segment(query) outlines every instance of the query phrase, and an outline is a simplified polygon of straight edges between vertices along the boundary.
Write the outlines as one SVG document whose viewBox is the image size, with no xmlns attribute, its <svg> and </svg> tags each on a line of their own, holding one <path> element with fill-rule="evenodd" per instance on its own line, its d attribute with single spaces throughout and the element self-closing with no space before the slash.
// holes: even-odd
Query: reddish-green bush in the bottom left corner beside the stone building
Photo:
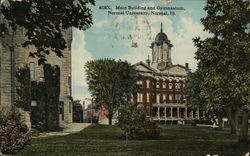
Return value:
<svg viewBox="0 0 250 156">
<path fill-rule="evenodd" d="M 14 153 L 15 150 L 22 149 L 28 140 L 14 120 L 8 120 L 5 125 L 0 126 L 0 151 Z"/>
</svg>

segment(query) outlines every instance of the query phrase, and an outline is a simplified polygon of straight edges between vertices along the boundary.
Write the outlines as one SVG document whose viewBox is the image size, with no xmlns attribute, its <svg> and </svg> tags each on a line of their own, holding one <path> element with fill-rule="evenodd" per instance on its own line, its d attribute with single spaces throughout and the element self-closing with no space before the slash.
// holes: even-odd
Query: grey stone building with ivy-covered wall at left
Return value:
<svg viewBox="0 0 250 156">
<path fill-rule="evenodd" d="M 71 42 L 72 30 L 64 32 L 67 48 L 63 50 L 63 58 L 50 54 L 47 63 L 60 67 L 60 119 L 65 122 L 72 122 L 71 96 Z M 35 47 L 22 47 L 25 41 L 25 30 L 18 28 L 17 31 L 9 31 L 5 38 L 0 38 L 0 113 L 13 109 L 16 97 L 15 73 L 19 68 L 28 65 L 30 76 L 34 81 L 44 81 L 42 65 L 37 64 L 37 58 L 29 57 L 29 52 Z"/>
</svg>

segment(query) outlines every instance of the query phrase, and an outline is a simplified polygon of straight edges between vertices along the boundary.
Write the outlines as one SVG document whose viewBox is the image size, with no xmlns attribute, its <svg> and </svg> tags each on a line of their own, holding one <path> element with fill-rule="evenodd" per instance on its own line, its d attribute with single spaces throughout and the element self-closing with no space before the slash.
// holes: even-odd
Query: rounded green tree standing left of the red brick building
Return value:
<svg viewBox="0 0 250 156">
<path fill-rule="evenodd" d="M 114 59 L 89 61 L 85 67 L 96 108 L 107 111 L 111 125 L 114 113 L 137 92 L 140 74 L 128 62 Z"/>
</svg>

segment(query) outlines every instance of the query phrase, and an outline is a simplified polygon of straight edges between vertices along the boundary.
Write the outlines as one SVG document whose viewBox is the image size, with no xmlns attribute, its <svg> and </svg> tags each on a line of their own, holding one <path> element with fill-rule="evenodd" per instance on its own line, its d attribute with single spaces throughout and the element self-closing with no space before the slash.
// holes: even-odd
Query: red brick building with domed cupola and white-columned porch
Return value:
<svg viewBox="0 0 250 156">
<path fill-rule="evenodd" d="M 188 63 L 173 64 L 171 49 L 173 45 L 162 30 L 151 44 L 152 63 L 149 58 L 138 62 L 134 67 L 143 75 L 137 82 L 142 92 L 132 99 L 139 109 L 143 109 L 154 121 L 184 123 L 205 117 L 205 112 L 189 108 L 185 96 L 185 82 L 189 73 Z"/>
</svg>

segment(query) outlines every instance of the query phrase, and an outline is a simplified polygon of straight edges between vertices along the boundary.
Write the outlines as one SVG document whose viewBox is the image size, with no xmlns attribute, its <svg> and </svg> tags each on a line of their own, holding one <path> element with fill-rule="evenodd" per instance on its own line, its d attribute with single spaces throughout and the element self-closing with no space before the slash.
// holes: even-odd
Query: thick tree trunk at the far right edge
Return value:
<svg viewBox="0 0 250 156">
<path fill-rule="evenodd" d="M 239 143 L 248 143 L 248 117 L 249 110 L 244 109 L 240 122 Z"/>
</svg>

